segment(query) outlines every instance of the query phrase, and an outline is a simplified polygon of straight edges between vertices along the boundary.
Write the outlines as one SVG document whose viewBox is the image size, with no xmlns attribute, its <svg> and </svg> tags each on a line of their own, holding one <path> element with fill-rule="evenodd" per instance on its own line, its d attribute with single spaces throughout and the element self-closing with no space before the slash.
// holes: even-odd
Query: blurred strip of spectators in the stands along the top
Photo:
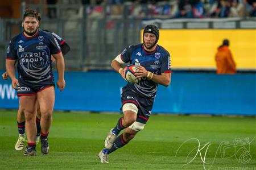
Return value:
<svg viewBox="0 0 256 170">
<path fill-rule="evenodd" d="M 127 18 L 169 19 L 256 16 L 255 0 L 47 0 L 47 3 L 86 5 L 86 14 L 92 18 L 123 15 Z M 55 10 L 51 9 L 49 18 L 55 18 Z"/>
</svg>

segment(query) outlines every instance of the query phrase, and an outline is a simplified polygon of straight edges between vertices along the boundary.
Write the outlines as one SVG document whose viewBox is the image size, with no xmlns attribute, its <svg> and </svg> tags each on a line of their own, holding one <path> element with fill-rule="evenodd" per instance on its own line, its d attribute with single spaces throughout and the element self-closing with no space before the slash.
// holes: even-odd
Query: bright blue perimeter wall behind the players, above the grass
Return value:
<svg viewBox="0 0 256 170">
<path fill-rule="evenodd" d="M 0 71 L 1 75 L 3 71 Z M 55 81 L 57 74 L 55 73 Z M 11 81 L 0 83 L 0 108 L 18 109 Z M 112 71 L 66 72 L 56 89 L 56 110 L 119 111 L 126 82 Z M 171 85 L 158 86 L 152 113 L 256 115 L 256 74 L 173 72 Z"/>
</svg>

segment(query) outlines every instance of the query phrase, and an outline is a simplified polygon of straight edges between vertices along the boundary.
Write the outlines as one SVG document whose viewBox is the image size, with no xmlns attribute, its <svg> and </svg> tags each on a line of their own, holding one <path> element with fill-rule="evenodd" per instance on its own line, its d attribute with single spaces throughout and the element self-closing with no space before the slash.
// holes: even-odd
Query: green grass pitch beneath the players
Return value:
<svg viewBox="0 0 256 170">
<path fill-rule="evenodd" d="M 98 152 L 119 117 L 119 114 L 55 112 L 49 155 L 42 155 L 38 145 L 37 156 L 26 157 L 22 156 L 23 151 L 14 149 L 18 136 L 16 111 L 2 110 L 0 169 L 256 169 L 253 117 L 152 115 L 134 140 L 110 154 L 109 164 L 102 164 Z M 198 142 L 191 138 L 200 141 L 200 152 L 203 158 L 206 155 L 205 167 L 200 152 L 184 165 L 187 156 L 188 163 L 198 151 Z M 234 144 L 237 138 L 243 139 L 242 143 Z"/>
</svg>

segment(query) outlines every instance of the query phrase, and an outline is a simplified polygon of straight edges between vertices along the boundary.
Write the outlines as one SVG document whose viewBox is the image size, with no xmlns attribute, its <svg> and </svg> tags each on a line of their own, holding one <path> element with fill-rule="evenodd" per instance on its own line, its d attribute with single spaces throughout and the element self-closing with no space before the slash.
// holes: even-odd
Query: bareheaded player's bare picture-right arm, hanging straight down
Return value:
<svg viewBox="0 0 256 170">
<path fill-rule="evenodd" d="M 53 58 L 56 60 L 56 69 L 58 72 L 58 80 L 57 86 L 62 91 L 65 88 L 65 80 L 64 80 L 64 71 L 65 71 L 65 63 L 62 52 L 52 55 Z"/>
</svg>

